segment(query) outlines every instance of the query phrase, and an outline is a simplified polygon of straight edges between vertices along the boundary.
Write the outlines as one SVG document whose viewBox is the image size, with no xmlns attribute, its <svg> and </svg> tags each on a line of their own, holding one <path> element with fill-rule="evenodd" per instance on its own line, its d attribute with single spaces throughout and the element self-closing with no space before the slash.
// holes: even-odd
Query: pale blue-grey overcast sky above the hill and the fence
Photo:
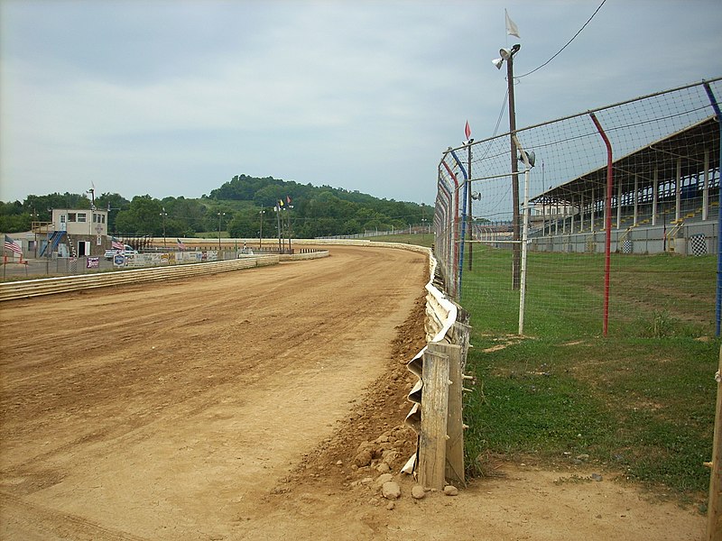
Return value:
<svg viewBox="0 0 722 541">
<path fill-rule="evenodd" d="M 465 122 L 494 133 L 499 48 L 523 75 L 600 3 L 0 0 L 0 200 L 245 173 L 432 204 Z M 719 77 L 720 23 L 719 0 L 606 0 L 517 80 L 517 127 Z"/>
</svg>

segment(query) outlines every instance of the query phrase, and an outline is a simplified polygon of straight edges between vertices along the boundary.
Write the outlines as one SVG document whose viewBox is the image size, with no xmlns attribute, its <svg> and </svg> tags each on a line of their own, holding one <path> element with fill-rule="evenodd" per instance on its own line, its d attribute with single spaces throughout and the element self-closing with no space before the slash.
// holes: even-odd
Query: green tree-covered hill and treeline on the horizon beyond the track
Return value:
<svg viewBox="0 0 722 541">
<path fill-rule="evenodd" d="M 403 229 L 428 222 L 433 214 L 430 206 L 417 203 L 246 175 L 234 177 L 199 199 L 145 195 L 128 200 L 106 193 L 95 198 L 95 206 L 109 210 L 110 233 L 192 237 L 227 232 L 233 237 L 255 237 L 263 229 L 264 237 L 273 237 L 278 223 L 274 208 L 279 201 L 284 223 L 290 224 L 292 236 L 298 238 Z M 91 205 L 86 195 L 67 192 L 28 196 L 22 203 L 0 203 L 0 231 L 28 231 L 33 221 L 50 222 L 53 208 Z"/>
</svg>

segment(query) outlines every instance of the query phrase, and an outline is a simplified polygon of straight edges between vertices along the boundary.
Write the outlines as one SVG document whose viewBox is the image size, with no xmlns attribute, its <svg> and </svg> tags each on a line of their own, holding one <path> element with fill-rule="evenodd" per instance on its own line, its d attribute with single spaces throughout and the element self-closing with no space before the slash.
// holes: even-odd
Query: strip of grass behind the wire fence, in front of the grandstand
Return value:
<svg viewBox="0 0 722 541">
<path fill-rule="evenodd" d="M 472 271 L 468 261 L 464 266 L 461 304 L 473 310 L 477 325 L 497 334 L 518 331 L 519 291 L 511 288 L 511 267 L 510 251 L 479 246 Z M 527 267 L 525 335 L 602 333 L 602 254 L 530 252 Z M 613 254 L 609 334 L 711 335 L 715 283 L 714 256 Z"/>
</svg>

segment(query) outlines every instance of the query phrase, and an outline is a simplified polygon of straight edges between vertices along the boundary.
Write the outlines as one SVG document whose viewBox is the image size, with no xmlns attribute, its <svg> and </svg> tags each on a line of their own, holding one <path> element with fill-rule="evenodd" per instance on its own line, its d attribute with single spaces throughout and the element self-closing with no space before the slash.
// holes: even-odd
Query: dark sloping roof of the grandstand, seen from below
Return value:
<svg viewBox="0 0 722 541">
<path fill-rule="evenodd" d="M 659 182 L 676 179 L 678 159 L 682 178 L 697 175 L 705 170 L 705 151 L 708 151 L 709 169 L 719 168 L 719 124 L 716 116 L 710 116 L 615 160 L 615 194 L 620 182 L 623 192 L 634 190 L 635 178 L 640 189 L 652 186 L 655 169 Z M 581 194 L 589 194 L 592 189 L 603 193 L 598 190 L 605 187 L 606 165 L 532 197 L 530 202 L 548 205 L 568 203 L 572 198 L 579 201 Z"/>
</svg>

